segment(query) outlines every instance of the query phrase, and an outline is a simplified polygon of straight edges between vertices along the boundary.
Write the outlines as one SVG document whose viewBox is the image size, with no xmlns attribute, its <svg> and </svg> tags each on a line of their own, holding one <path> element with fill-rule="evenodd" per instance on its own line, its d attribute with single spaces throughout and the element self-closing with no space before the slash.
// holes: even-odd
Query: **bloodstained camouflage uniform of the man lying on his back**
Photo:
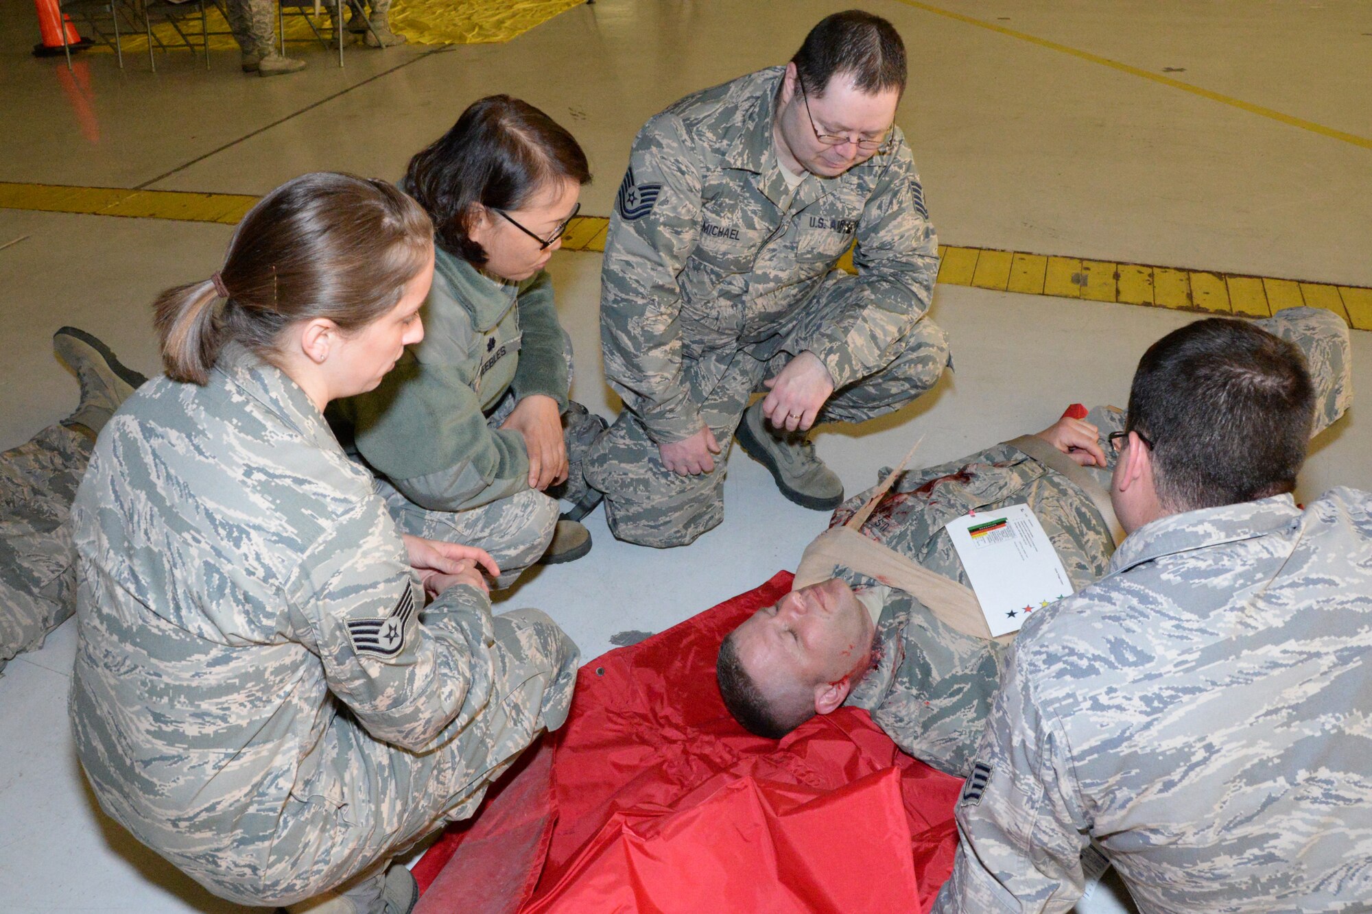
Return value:
<svg viewBox="0 0 1372 914">
<path fill-rule="evenodd" d="M 1257 321 L 1297 343 L 1316 386 L 1317 434 L 1338 420 L 1351 399 L 1349 331 L 1335 314 L 1290 309 Z M 1093 471 L 1110 484 L 1114 453 L 1106 442 L 1124 427 L 1124 412 L 1096 408 L 1088 421 L 1100 430 L 1100 447 L 1111 467 Z M 885 476 L 885 472 L 882 473 Z M 856 495 L 834 513 L 844 523 L 870 493 Z M 863 526 L 863 532 L 925 568 L 967 585 L 962 561 L 944 524 L 969 511 L 1028 504 L 1052 541 L 1076 590 L 1110 568 L 1114 543 L 1091 500 L 1067 478 L 1014 446 L 996 445 L 941 467 L 906 473 Z M 847 568 L 836 570 L 855 586 L 874 586 Z M 996 692 L 1006 645 L 962 634 L 936 619 L 911 594 L 892 590 L 877 627 L 881 659 L 853 689 L 849 704 L 867 708 L 910 755 L 967 775 Z M 986 909 L 991 910 L 991 909 Z"/>
</svg>

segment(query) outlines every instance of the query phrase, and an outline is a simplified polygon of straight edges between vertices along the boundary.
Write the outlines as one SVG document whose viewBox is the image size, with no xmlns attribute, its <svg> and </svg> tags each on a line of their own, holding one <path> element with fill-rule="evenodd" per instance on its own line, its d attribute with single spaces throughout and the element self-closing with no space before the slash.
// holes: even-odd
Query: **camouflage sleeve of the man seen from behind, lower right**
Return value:
<svg viewBox="0 0 1372 914">
<path fill-rule="evenodd" d="M 1091 823 L 1072 748 L 1056 720 L 1040 712 L 1037 675 L 1026 670 L 1044 659 L 1026 664 L 1022 646 L 1011 646 L 958 801 L 958 855 L 936 911 L 1069 911 L 1084 888 Z"/>
</svg>

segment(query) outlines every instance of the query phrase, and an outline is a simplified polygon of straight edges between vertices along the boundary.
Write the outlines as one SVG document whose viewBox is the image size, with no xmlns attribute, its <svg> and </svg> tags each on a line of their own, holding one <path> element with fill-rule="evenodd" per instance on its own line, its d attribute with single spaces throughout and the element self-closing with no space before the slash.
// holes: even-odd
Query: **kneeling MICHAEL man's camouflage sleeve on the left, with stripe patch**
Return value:
<svg viewBox="0 0 1372 914">
<path fill-rule="evenodd" d="M 659 442 L 702 428 L 682 376 L 676 276 L 700 240 L 701 173 L 681 118 L 639 130 L 615 198 L 601 270 L 605 377 Z"/>
</svg>

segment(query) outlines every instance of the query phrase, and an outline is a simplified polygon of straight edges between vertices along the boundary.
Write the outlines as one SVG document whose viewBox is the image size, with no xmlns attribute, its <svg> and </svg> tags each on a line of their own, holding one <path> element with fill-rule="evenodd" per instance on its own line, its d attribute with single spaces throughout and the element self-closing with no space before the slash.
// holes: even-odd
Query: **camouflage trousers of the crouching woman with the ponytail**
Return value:
<svg viewBox="0 0 1372 914">
<path fill-rule="evenodd" d="M 320 760 L 309 796 L 292 792 L 262 822 L 243 822 L 230 855 L 173 862 L 229 900 L 294 904 L 471 817 L 539 733 L 567 719 L 579 663 L 576 645 L 538 609 L 494 616 L 493 633 L 484 700 L 469 699 L 429 747 L 399 749 L 339 714 L 313 749 Z"/>
</svg>

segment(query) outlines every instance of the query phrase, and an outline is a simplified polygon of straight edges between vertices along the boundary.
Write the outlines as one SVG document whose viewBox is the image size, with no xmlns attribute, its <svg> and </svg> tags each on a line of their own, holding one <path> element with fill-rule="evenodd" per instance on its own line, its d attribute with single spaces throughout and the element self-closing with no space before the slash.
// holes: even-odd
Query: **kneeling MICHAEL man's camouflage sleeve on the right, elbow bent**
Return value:
<svg viewBox="0 0 1372 914">
<path fill-rule="evenodd" d="M 938 276 L 938 239 L 925 209 L 923 188 L 904 137 L 896 134 L 889 159 L 858 222 L 856 276 L 823 290 L 844 314 L 814 339 L 801 340 L 842 387 L 881 366 L 882 354 L 910 332 L 933 301 Z M 860 307 L 842 307 L 859 299 Z"/>
</svg>

